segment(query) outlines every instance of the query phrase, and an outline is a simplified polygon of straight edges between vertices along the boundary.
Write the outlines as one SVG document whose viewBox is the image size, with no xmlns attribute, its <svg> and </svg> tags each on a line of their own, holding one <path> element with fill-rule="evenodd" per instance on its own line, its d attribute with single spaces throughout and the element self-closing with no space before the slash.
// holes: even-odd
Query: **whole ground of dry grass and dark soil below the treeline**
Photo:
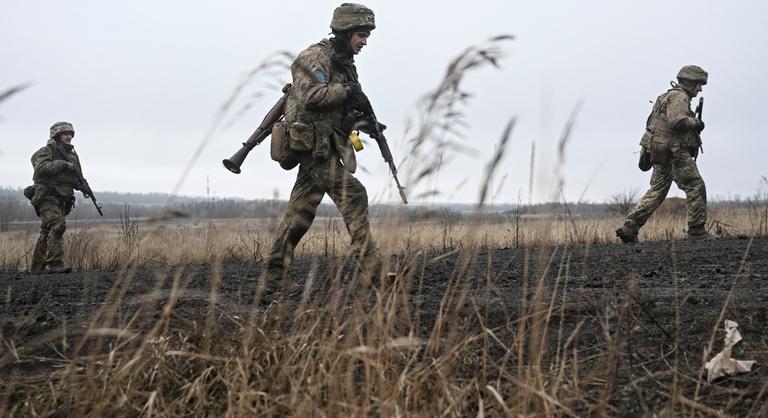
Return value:
<svg viewBox="0 0 768 418">
<path fill-rule="evenodd" d="M 282 292 L 270 223 L 76 229 L 81 270 L 47 276 L 18 272 L 34 234 L 13 232 L 0 415 L 765 416 L 768 241 L 711 218 L 723 238 L 677 240 L 676 214 L 634 246 L 620 219 L 381 221 L 374 286 L 318 219 Z M 708 383 L 725 319 L 758 366 Z"/>
</svg>

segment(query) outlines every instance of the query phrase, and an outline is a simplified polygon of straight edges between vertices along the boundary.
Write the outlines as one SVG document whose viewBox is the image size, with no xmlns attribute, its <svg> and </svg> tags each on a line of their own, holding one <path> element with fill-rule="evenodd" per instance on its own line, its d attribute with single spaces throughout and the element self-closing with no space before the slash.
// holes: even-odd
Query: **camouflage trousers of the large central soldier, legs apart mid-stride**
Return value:
<svg viewBox="0 0 768 418">
<path fill-rule="evenodd" d="M 351 238 L 352 256 L 361 269 L 376 274 L 381 265 L 368 222 L 368 194 L 338 158 L 301 164 L 288 208 L 277 229 L 269 256 L 269 268 L 284 269 L 293 259 L 293 251 L 309 230 L 317 206 L 325 194 L 341 212 Z"/>
</svg>

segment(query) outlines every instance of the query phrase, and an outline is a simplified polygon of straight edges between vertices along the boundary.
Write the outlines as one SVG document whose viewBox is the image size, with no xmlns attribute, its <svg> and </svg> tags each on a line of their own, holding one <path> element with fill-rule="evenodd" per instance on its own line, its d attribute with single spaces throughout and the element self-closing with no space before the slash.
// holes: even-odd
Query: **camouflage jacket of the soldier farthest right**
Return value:
<svg viewBox="0 0 768 418">
<path fill-rule="evenodd" d="M 680 87 L 668 90 L 656 99 L 648 116 L 640 146 L 648 148 L 651 139 L 668 141 L 683 148 L 697 147 L 696 118 L 691 111 L 693 97 Z"/>
</svg>

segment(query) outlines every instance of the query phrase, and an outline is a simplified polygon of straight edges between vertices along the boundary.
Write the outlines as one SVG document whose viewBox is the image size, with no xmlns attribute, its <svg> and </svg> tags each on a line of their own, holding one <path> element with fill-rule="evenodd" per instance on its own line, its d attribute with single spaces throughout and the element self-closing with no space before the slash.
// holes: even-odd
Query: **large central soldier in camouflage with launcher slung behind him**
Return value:
<svg viewBox="0 0 768 418">
<path fill-rule="evenodd" d="M 357 164 L 349 140 L 350 132 L 360 128 L 355 109 L 368 103 L 353 57 L 375 27 L 371 9 L 344 3 L 333 12 L 334 36 L 302 51 L 291 65 L 285 123 L 299 172 L 272 245 L 272 277 L 285 272 L 326 193 L 341 212 L 358 266 L 378 273 L 381 261 L 368 222 L 368 195 L 352 175 Z"/>
</svg>

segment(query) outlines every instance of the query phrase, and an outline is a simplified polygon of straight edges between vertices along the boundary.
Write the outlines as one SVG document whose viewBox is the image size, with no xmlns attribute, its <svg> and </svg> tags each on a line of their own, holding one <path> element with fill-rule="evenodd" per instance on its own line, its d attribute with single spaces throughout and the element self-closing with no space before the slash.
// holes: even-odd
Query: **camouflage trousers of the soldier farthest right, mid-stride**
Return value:
<svg viewBox="0 0 768 418">
<path fill-rule="evenodd" d="M 696 161 L 688 150 L 680 149 L 669 164 L 656 164 L 651 175 L 651 188 L 637 206 L 627 215 L 627 220 L 645 225 L 653 211 L 667 197 L 672 182 L 685 192 L 688 206 L 688 229 L 703 227 L 707 222 L 707 188 L 696 167 Z"/>
</svg>

